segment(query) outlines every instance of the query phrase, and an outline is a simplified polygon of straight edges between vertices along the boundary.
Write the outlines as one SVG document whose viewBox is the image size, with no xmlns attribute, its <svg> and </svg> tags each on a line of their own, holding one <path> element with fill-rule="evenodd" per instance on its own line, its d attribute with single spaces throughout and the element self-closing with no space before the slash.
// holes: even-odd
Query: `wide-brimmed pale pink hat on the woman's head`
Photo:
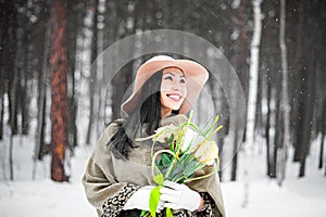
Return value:
<svg viewBox="0 0 326 217">
<path fill-rule="evenodd" d="M 158 71 L 167 67 L 180 68 L 186 77 L 187 95 L 183 102 L 179 113 L 186 114 L 196 104 L 204 84 L 209 79 L 208 71 L 199 63 L 190 60 L 175 60 L 168 55 L 156 55 L 145 62 L 136 74 L 135 86 L 131 95 L 122 104 L 121 108 L 131 114 L 135 110 L 141 87 Z"/>
</svg>

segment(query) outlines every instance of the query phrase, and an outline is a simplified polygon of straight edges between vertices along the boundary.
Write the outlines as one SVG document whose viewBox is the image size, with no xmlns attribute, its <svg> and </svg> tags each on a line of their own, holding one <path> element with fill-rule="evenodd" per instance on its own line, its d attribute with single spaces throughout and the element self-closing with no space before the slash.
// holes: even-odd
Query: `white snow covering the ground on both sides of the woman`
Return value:
<svg viewBox="0 0 326 217">
<path fill-rule="evenodd" d="M 0 143 L 1 144 L 1 143 Z M 70 183 L 55 183 L 49 179 L 49 166 L 38 166 L 36 180 L 30 179 L 32 159 L 26 153 L 28 142 L 22 142 L 16 150 L 16 180 L 8 181 L 8 174 L 0 168 L 0 216 L 1 217 L 96 217 L 95 209 L 88 204 L 80 179 L 90 148 L 76 150 L 72 159 Z M 312 153 L 317 153 L 318 143 L 313 144 Z M 3 145 L 0 145 L 0 153 Z M 25 153 L 25 155 L 24 155 Z M 3 152 L 2 152 L 2 157 Z M 28 156 L 28 157 L 27 157 Z M 317 154 L 306 161 L 306 177 L 298 179 L 299 165 L 289 163 L 287 179 L 283 187 L 264 175 L 264 154 L 256 154 L 250 159 L 249 176 L 239 173 L 240 181 L 222 183 L 222 191 L 229 217 L 325 217 L 326 216 L 326 177 L 324 169 L 316 170 Z M 28 162 L 29 161 L 29 162 Z M 45 159 L 49 161 L 49 159 Z M 240 163 L 241 163 L 240 158 Z M 239 166 L 241 170 L 241 165 Z M 249 182 L 248 205 L 242 207 L 244 184 Z"/>
</svg>

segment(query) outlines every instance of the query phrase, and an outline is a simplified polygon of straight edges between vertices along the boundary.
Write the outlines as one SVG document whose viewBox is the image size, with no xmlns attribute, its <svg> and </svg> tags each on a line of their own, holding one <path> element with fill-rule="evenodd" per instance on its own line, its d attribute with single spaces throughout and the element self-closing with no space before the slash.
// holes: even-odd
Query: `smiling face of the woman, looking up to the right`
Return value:
<svg viewBox="0 0 326 217">
<path fill-rule="evenodd" d="M 168 67 L 163 69 L 161 84 L 161 116 L 167 116 L 173 110 L 179 110 L 186 95 L 186 78 L 181 69 Z"/>
</svg>

